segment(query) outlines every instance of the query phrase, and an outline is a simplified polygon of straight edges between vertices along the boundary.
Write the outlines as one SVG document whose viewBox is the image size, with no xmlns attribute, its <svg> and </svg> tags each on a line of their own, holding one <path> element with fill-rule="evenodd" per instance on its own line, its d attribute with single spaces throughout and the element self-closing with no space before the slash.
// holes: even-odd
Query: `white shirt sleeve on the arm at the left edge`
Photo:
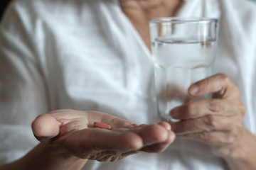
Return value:
<svg viewBox="0 0 256 170">
<path fill-rule="evenodd" d="M 31 122 L 48 111 L 34 17 L 24 2 L 14 1 L 0 25 L 0 164 L 38 143 Z"/>
</svg>

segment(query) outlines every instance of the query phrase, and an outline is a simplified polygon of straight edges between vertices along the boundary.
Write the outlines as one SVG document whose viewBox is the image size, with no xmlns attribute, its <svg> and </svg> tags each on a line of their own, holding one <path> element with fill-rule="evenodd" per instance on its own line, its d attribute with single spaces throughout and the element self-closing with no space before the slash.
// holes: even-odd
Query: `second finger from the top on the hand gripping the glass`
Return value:
<svg viewBox="0 0 256 170">
<path fill-rule="evenodd" d="M 193 101 L 178 106 L 170 111 L 171 117 L 175 119 L 200 118 L 204 115 L 233 115 L 235 107 L 229 101 L 214 98 L 203 101 Z"/>
</svg>

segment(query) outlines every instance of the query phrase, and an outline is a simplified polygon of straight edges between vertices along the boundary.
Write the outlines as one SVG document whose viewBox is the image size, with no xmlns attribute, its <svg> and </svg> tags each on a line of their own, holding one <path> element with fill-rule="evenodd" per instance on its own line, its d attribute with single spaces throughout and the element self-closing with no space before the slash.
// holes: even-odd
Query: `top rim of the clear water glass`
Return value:
<svg viewBox="0 0 256 170">
<path fill-rule="evenodd" d="M 149 21 L 149 23 L 206 23 L 206 22 L 217 23 L 218 18 L 162 17 L 162 18 L 154 18 Z"/>
</svg>

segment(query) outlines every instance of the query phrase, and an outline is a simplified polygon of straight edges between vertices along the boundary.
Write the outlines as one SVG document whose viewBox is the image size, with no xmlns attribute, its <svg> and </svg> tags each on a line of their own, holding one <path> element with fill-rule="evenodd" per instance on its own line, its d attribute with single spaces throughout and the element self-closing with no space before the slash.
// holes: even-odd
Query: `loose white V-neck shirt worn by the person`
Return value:
<svg viewBox="0 0 256 170">
<path fill-rule="evenodd" d="M 256 5 L 190 0 L 178 16 L 220 19 L 215 72 L 228 74 L 239 87 L 244 124 L 256 135 Z M 38 144 L 31 122 L 48 111 L 95 110 L 134 123 L 159 121 L 150 52 L 117 1 L 16 0 L 0 28 L 0 164 Z M 89 161 L 84 169 L 228 166 L 207 145 L 177 138 L 163 153 Z"/>
</svg>

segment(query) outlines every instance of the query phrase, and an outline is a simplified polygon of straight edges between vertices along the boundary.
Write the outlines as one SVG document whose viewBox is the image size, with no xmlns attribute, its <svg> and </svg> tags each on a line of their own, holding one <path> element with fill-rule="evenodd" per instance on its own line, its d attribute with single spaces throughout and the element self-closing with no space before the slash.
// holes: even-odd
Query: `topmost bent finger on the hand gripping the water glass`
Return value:
<svg viewBox="0 0 256 170">
<path fill-rule="evenodd" d="M 228 78 L 226 74 L 215 74 L 192 84 L 188 88 L 191 96 L 203 96 L 209 93 L 218 93 L 221 98 L 238 97 L 238 87 Z"/>
</svg>

